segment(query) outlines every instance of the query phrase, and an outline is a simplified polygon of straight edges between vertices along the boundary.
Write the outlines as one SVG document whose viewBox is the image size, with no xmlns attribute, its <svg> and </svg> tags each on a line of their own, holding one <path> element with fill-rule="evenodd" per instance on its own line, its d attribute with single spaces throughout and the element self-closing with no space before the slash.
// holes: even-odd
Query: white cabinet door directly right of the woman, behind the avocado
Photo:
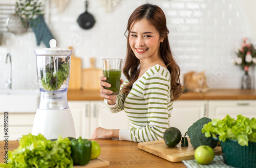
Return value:
<svg viewBox="0 0 256 168">
<path fill-rule="evenodd" d="M 178 100 L 173 104 L 170 127 L 178 128 L 184 136 L 187 129 L 204 116 L 207 116 L 207 100 Z"/>
</svg>

